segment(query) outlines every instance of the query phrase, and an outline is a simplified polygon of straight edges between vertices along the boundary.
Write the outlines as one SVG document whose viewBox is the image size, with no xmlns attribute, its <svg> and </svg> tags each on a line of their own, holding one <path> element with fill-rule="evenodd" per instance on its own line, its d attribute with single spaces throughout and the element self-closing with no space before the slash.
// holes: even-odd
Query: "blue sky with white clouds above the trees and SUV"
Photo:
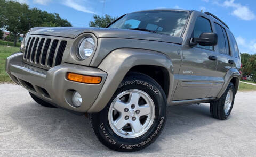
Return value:
<svg viewBox="0 0 256 157">
<path fill-rule="evenodd" d="M 121 16 L 154 8 L 209 11 L 227 23 L 242 53 L 256 53 L 256 1 L 254 0 L 17 0 L 51 13 L 59 13 L 75 27 L 88 27 L 93 14 Z"/>
</svg>

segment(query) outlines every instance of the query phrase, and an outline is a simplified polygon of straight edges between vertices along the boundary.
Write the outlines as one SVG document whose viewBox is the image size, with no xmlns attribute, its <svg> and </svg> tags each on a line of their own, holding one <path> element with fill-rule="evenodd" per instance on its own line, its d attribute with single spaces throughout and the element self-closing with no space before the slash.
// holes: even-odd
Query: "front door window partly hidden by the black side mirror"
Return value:
<svg viewBox="0 0 256 157">
<path fill-rule="evenodd" d="M 195 27 L 193 30 L 192 38 L 199 38 L 202 33 L 210 33 L 212 32 L 212 27 L 210 21 L 202 16 L 198 16 L 196 19 Z M 201 46 L 197 45 L 197 47 L 202 47 L 205 49 L 213 50 L 213 46 Z"/>
</svg>

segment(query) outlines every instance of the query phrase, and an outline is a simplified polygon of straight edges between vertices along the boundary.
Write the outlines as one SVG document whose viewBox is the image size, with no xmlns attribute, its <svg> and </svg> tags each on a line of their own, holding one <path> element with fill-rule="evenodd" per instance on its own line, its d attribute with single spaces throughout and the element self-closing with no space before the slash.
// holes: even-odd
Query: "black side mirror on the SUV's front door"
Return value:
<svg viewBox="0 0 256 157">
<path fill-rule="evenodd" d="M 197 43 L 202 46 L 215 46 L 218 43 L 218 35 L 216 33 L 202 33 L 199 38 L 190 39 L 190 46 L 196 46 Z"/>
</svg>

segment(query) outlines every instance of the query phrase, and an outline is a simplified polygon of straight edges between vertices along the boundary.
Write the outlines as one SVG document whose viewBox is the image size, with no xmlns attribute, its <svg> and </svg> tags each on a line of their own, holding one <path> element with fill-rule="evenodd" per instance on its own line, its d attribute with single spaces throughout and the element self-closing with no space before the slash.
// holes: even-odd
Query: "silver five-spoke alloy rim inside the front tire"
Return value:
<svg viewBox="0 0 256 157">
<path fill-rule="evenodd" d="M 109 107 L 111 129 L 123 138 L 136 138 L 145 134 L 155 119 L 155 104 L 141 90 L 126 90 L 117 95 Z"/>
</svg>

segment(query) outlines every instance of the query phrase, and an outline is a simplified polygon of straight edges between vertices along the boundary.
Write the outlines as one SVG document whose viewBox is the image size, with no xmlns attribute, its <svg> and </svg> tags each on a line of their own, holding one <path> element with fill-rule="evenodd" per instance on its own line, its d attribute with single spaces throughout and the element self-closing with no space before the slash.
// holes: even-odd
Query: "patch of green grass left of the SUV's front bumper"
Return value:
<svg viewBox="0 0 256 157">
<path fill-rule="evenodd" d="M 19 47 L 0 45 L 0 82 L 12 82 L 5 72 L 5 60 L 12 53 L 19 51 Z"/>
</svg>

